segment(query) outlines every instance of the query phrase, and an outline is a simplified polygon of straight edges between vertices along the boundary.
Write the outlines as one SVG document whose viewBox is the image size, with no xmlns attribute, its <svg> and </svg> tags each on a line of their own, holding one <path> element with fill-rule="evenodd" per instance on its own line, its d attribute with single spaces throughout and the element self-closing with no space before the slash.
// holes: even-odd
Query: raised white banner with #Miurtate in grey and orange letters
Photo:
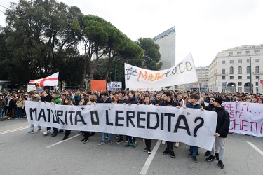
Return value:
<svg viewBox="0 0 263 175">
<path fill-rule="evenodd" d="M 194 61 L 189 54 L 170 69 L 151 71 L 125 64 L 125 85 L 130 89 L 151 89 L 198 81 Z"/>
</svg>

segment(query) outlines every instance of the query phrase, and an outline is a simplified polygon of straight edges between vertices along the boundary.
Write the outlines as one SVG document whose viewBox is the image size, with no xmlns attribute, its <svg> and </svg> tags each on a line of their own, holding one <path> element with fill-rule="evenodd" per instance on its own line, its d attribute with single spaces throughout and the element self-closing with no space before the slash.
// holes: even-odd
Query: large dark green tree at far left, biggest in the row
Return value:
<svg viewBox="0 0 263 175">
<path fill-rule="evenodd" d="M 21 85 L 59 71 L 65 57 L 78 53 L 81 34 L 73 25 L 81 17 L 79 8 L 55 0 L 11 3 L 5 28 L 6 48 L 11 55 L 9 76 L 21 75 L 24 82 L 12 81 Z"/>
</svg>

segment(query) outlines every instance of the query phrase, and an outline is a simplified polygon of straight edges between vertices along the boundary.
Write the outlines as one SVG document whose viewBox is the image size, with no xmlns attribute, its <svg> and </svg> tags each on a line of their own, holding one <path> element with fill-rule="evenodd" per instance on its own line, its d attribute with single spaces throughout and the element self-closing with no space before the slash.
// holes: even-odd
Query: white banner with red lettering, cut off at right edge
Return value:
<svg viewBox="0 0 263 175">
<path fill-rule="evenodd" d="M 229 132 L 263 137 L 263 104 L 224 102 L 229 112 Z"/>
</svg>

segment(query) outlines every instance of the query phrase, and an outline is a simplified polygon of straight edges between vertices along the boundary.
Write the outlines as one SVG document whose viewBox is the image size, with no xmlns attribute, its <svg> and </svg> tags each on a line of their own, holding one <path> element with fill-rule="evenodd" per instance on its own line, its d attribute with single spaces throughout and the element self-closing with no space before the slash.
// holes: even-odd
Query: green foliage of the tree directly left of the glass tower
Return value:
<svg viewBox="0 0 263 175">
<path fill-rule="evenodd" d="M 135 43 L 144 50 L 142 59 L 139 62 L 135 62 L 135 65 L 144 69 L 160 70 L 163 63 L 161 62 L 159 45 L 154 43 L 151 38 L 139 38 Z"/>
</svg>

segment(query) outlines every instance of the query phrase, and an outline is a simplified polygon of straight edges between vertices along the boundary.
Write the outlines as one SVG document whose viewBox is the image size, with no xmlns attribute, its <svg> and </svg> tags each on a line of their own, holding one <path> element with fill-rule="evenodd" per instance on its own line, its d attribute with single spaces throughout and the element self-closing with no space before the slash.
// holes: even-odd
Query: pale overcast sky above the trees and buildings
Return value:
<svg viewBox="0 0 263 175">
<path fill-rule="evenodd" d="M 0 10 L 10 2 L 0 0 Z M 261 0 L 61 0 L 84 15 L 100 16 L 133 41 L 154 38 L 175 26 L 176 64 L 189 52 L 195 66 L 208 66 L 218 52 L 263 44 Z M 0 25 L 6 25 L 0 12 Z"/>
</svg>

